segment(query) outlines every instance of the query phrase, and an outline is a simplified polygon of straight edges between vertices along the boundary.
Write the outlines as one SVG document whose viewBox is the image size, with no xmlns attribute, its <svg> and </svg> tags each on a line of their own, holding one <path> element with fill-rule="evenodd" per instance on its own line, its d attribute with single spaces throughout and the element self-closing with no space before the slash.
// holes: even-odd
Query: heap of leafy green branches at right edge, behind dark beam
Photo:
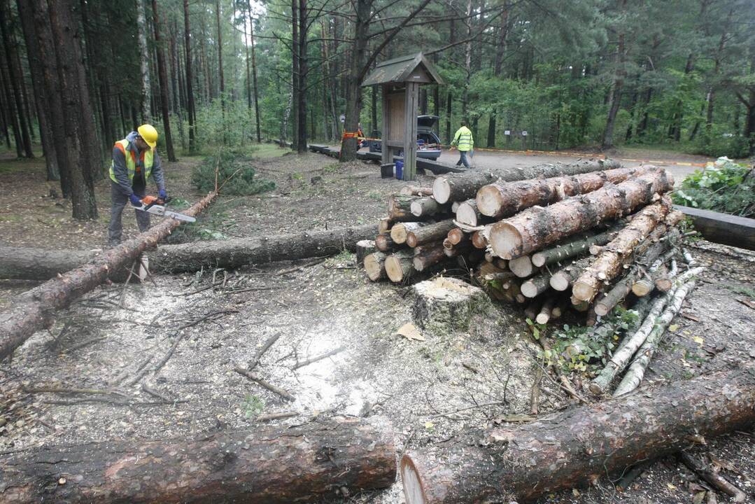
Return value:
<svg viewBox="0 0 755 504">
<path fill-rule="evenodd" d="M 755 215 L 755 177 L 752 169 L 722 157 L 704 170 L 695 170 L 673 193 L 683 206 L 751 217 Z"/>
</svg>

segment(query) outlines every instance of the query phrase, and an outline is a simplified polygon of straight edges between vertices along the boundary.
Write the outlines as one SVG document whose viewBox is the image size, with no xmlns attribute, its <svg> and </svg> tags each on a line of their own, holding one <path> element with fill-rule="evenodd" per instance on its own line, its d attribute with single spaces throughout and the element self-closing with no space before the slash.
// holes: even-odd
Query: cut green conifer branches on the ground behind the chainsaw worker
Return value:
<svg viewBox="0 0 755 504">
<path fill-rule="evenodd" d="M 215 188 L 215 169 L 217 184 L 223 185 L 220 192 L 237 196 L 248 196 L 273 190 L 276 183 L 254 177 L 252 159 L 233 150 L 221 150 L 214 156 L 208 156 L 197 166 L 191 176 L 194 187 L 208 193 Z"/>
</svg>

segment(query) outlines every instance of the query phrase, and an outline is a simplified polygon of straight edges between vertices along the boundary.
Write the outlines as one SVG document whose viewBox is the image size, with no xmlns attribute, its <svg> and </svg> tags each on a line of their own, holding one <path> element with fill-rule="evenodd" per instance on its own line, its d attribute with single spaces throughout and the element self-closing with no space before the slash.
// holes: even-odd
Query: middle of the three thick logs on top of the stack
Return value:
<svg viewBox="0 0 755 504">
<path fill-rule="evenodd" d="M 566 177 L 488 184 L 477 191 L 477 206 L 482 215 L 506 218 L 532 206 L 551 205 L 569 196 L 591 193 L 606 184 L 619 184 L 627 178 L 657 169 L 645 165 Z"/>
</svg>

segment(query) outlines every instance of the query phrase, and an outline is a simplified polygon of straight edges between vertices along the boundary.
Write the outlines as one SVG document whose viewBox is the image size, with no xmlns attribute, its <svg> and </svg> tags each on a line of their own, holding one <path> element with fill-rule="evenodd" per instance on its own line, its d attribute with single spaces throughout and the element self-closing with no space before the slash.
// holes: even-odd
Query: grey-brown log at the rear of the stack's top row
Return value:
<svg viewBox="0 0 755 504">
<path fill-rule="evenodd" d="M 480 187 L 499 180 L 504 182 L 523 181 L 529 178 L 576 175 L 619 167 L 617 161 L 593 159 L 569 164 L 542 164 L 526 168 L 470 170 L 436 178 L 433 182 L 433 197 L 438 203 L 465 201 L 475 197 Z"/>
</svg>

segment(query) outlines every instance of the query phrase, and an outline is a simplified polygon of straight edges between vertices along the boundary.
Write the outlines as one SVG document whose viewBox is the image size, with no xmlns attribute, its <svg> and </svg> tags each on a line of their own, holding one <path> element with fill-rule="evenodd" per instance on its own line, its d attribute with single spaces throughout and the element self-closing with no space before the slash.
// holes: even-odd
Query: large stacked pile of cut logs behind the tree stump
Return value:
<svg viewBox="0 0 755 504">
<path fill-rule="evenodd" d="M 537 323 L 569 307 L 593 323 L 630 292 L 672 288 L 683 217 L 664 195 L 672 188 L 664 169 L 610 160 L 449 174 L 392 196 L 358 253 L 374 281 L 458 261 Z"/>
</svg>

